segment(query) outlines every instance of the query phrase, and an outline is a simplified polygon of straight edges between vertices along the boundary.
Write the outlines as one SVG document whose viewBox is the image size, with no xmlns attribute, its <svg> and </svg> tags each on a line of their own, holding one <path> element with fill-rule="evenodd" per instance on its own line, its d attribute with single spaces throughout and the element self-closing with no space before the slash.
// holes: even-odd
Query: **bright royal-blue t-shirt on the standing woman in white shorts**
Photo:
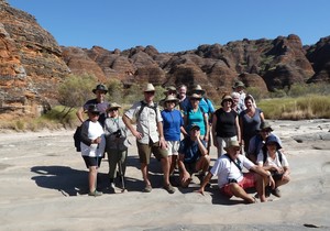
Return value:
<svg viewBox="0 0 330 231">
<path fill-rule="evenodd" d="M 184 125 L 182 113 L 176 109 L 173 111 L 165 109 L 162 111 L 162 117 L 165 141 L 179 141 L 180 128 Z"/>
</svg>

